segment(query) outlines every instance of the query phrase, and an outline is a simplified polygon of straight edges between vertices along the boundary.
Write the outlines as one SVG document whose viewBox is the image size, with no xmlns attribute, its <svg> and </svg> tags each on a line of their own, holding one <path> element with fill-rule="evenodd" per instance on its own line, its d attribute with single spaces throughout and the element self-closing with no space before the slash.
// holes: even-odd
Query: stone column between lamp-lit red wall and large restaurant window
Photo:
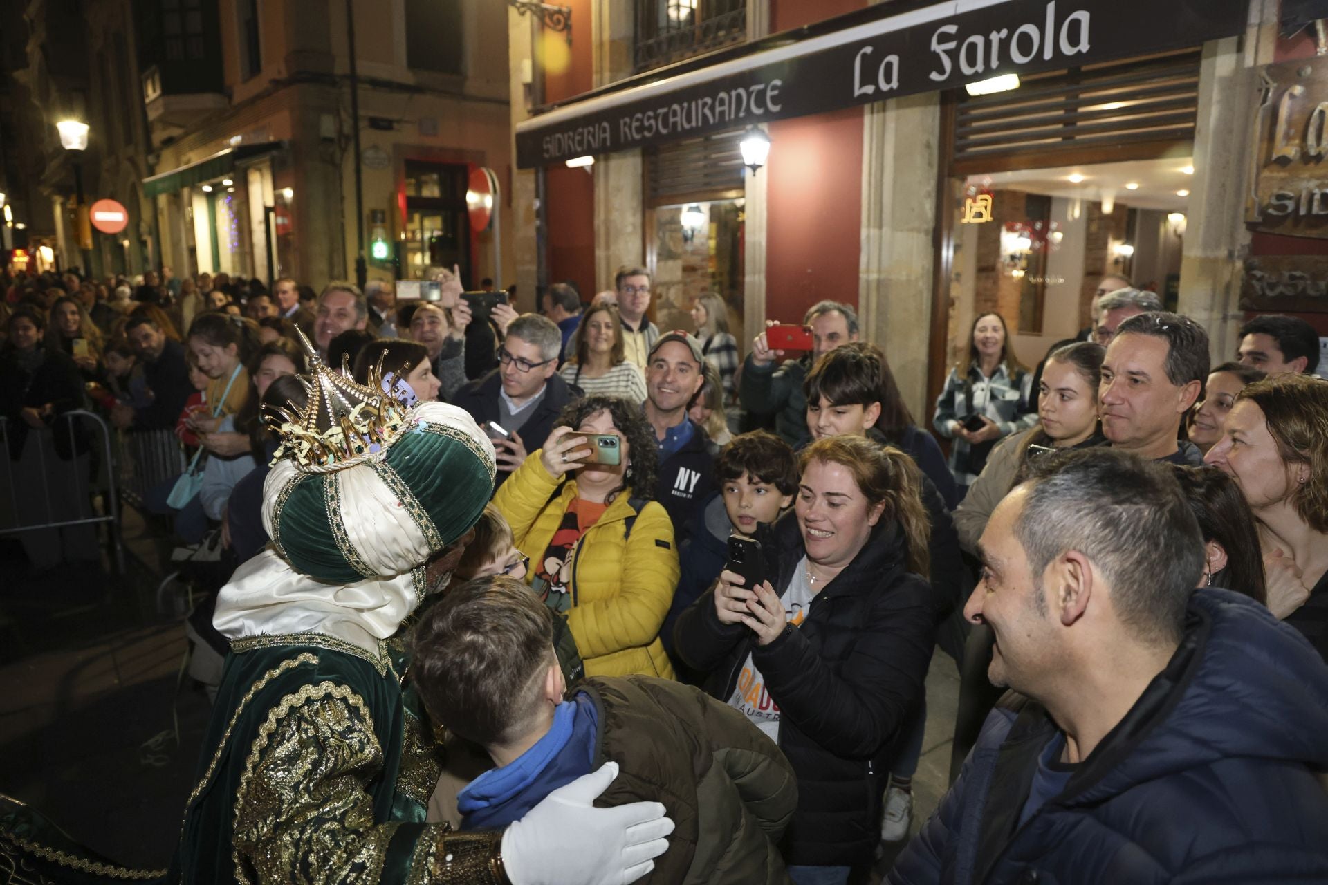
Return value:
<svg viewBox="0 0 1328 885">
<path fill-rule="evenodd" d="M 862 337 L 886 352 L 904 403 L 927 426 L 940 94 L 867 105 L 862 131 Z"/>
</svg>

